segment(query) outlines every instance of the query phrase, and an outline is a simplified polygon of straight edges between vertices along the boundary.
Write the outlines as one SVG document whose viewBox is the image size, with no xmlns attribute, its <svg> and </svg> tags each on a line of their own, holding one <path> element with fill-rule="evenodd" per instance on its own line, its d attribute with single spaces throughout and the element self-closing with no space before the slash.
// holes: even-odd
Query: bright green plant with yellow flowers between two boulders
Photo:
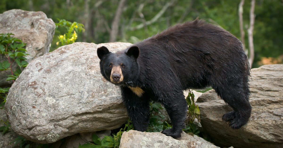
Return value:
<svg viewBox="0 0 283 148">
<path fill-rule="evenodd" d="M 56 31 L 59 32 L 57 30 L 58 27 L 63 27 L 67 29 L 67 33 L 62 35 L 59 32 L 60 33 L 60 35 L 58 36 L 59 41 L 56 43 L 56 45 L 59 45 L 59 43 L 61 43 L 61 45 L 63 46 L 63 45 L 75 43 L 76 39 L 78 38 L 76 32 L 85 31 L 84 26 L 81 23 L 77 23 L 77 22 L 72 23 L 70 21 L 66 21 L 65 19 L 58 19 L 58 21 L 59 23 L 55 23 Z"/>
</svg>

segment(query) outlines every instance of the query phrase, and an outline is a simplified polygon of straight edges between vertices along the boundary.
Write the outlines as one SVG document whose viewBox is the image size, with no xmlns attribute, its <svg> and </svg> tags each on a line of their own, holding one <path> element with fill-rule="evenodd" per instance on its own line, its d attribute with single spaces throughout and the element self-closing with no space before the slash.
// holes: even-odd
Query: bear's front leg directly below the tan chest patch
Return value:
<svg viewBox="0 0 283 148">
<path fill-rule="evenodd" d="M 127 108 L 128 115 L 137 131 L 146 131 L 149 123 L 149 98 L 143 94 L 137 96 L 128 87 L 121 87 L 122 99 Z"/>
</svg>

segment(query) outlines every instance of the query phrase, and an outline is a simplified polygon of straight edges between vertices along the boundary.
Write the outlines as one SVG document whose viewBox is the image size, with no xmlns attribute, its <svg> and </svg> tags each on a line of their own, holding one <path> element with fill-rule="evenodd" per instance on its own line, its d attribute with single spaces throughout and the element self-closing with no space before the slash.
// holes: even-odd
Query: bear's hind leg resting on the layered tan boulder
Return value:
<svg viewBox="0 0 283 148">
<path fill-rule="evenodd" d="M 222 120 L 229 122 L 229 126 L 233 129 L 239 129 L 248 122 L 252 107 L 248 101 L 248 87 L 240 87 L 239 85 L 227 86 L 226 88 L 214 88 L 217 94 L 228 104 L 234 111 L 223 115 Z"/>
</svg>

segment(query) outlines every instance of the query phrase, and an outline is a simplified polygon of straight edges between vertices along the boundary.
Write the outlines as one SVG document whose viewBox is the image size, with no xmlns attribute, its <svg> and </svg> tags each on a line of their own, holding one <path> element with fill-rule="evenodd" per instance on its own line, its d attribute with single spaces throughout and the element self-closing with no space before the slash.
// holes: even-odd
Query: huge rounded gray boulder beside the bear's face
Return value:
<svg viewBox="0 0 283 148">
<path fill-rule="evenodd" d="M 5 112 L 18 135 L 38 143 L 104 129 L 128 120 L 119 87 L 100 74 L 97 48 L 130 43 L 73 43 L 29 63 L 9 90 Z"/>
</svg>

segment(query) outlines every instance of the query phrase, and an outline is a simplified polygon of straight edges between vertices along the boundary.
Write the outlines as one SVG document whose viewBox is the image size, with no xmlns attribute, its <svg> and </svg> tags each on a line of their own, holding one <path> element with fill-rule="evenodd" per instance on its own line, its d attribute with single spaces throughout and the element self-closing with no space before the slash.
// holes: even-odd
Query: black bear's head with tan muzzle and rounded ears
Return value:
<svg viewBox="0 0 283 148">
<path fill-rule="evenodd" d="M 139 54 L 138 46 L 132 46 L 128 50 L 116 53 L 109 52 L 104 46 L 97 48 L 102 76 L 116 85 L 132 83 L 139 73 L 137 63 Z"/>
</svg>

